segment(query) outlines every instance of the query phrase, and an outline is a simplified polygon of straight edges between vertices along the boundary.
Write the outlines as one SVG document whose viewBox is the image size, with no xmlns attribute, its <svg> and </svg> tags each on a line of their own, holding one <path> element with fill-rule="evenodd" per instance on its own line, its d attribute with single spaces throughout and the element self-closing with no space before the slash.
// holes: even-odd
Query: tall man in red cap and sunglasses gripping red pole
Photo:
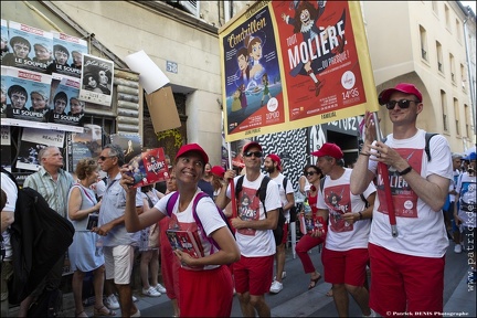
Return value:
<svg viewBox="0 0 477 318">
<path fill-rule="evenodd" d="M 377 123 L 367 113 L 364 146 L 351 174 L 354 194 L 378 181 L 369 240 L 370 307 L 381 316 L 436 315 L 443 311 L 448 239 L 442 208 L 453 179 L 451 149 L 436 135 L 431 156 L 425 153 L 425 131 L 416 127 L 424 104 L 413 84 L 383 91 L 379 103 L 389 109 L 393 132 L 385 142 L 375 141 Z"/>
</svg>

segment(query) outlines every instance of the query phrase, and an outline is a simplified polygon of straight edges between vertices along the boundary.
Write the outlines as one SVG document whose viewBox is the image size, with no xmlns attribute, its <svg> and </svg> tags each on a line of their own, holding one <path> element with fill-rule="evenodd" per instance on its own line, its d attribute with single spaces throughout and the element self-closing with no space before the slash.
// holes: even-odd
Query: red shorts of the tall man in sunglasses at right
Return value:
<svg viewBox="0 0 477 318">
<path fill-rule="evenodd" d="M 371 243 L 368 248 L 371 258 L 370 307 L 374 311 L 383 317 L 443 311 L 444 256 L 404 255 Z"/>
</svg>

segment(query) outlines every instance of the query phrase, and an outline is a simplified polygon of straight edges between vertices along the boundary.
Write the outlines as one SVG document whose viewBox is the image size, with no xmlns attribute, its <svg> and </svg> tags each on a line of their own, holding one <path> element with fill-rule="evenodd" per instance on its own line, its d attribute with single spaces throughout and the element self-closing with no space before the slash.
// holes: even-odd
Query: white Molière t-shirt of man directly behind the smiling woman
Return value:
<svg viewBox="0 0 477 318">
<path fill-rule="evenodd" d="M 234 178 L 234 189 L 236 189 L 239 178 L 241 178 L 241 176 Z M 243 178 L 242 191 L 236 200 L 237 218 L 248 222 L 264 220 L 266 218 L 264 208 L 259 198 L 256 195 L 256 191 L 264 176 L 262 174 L 253 182 L 250 182 L 246 176 Z M 226 195 L 231 198 L 230 184 Z M 274 180 L 271 180 L 267 184 L 265 206 L 267 211 L 282 206 L 278 186 Z M 235 232 L 235 239 L 241 254 L 246 257 L 269 256 L 275 254 L 276 245 L 272 230 L 240 229 Z"/>
</svg>

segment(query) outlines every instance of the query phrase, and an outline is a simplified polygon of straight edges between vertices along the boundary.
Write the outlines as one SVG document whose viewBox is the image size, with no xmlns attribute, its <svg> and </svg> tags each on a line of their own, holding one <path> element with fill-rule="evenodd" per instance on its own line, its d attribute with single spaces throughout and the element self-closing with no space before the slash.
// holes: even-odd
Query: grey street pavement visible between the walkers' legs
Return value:
<svg viewBox="0 0 477 318">
<path fill-rule="evenodd" d="M 321 254 L 318 247 L 311 250 L 311 259 L 317 269 L 322 274 Z M 446 268 L 444 276 L 444 317 L 476 317 L 476 285 L 467 285 L 468 256 L 465 253 L 455 254 L 454 244 L 451 242 L 446 254 Z M 337 311 L 331 297 L 326 293 L 330 284 L 320 279 L 317 287 L 308 290 L 309 276 L 304 274 L 299 258 L 293 258 L 292 248 L 287 248 L 285 264 L 287 277 L 284 279 L 284 289 L 276 295 L 265 296 L 272 308 L 273 317 L 337 317 Z M 160 297 L 147 297 L 136 290 L 138 298 L 136 306 L 141 311 L 141 317 L 172 317 L 172 306 L 166 295 Z M 349 300 L 350 317 L 361 317 L 360 309 L 354 300 Z M 11 317 L 17 317 L 12 308 Z M 93 306 L 85 308 L 86 314 L 93 317 Z M 64 295 L 64 317 L 74 317 L 73 295 Z M 120 310 L 116 316 L 120 317 Z M 234 297 L 232 317 L 242 317 L 237 297 Z"/>
</svg>

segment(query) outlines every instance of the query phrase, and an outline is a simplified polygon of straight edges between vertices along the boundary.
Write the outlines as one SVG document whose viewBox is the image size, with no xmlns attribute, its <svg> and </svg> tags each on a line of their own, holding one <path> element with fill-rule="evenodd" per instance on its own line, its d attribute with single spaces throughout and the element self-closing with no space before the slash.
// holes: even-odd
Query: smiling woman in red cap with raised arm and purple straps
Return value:
<svg viewBox="0 0 477 318">
<path fill-rule="evenodd" d="M 209 157 L 199 145 L 182 146 L 173 168 L 178 191 L 166 195 L 140 215 L 134 206 L 137 190 L 129 187 L 132 178 L 127 168 L 121 170 L 120 184 L 126 191 L 125 223 L 128 232 L 139 231 L 170 215 L 169 229 L 190 232 L 197 237 L 198 245 L 203 247 L 198 258 L 186 251 L 173 251 L 176 262 L 181 264 L 179 309 L 183 317 L 230 317 L 232 312 L 233 283 L 226 264 L 239 261 L 239 246 L 212 198 L 205 195 L 195 201 L 195 197 L 202 192 L 198 183 L 208 162 Z M 169 202 L 172 198 L 174 201 Z"/>
</svg>

